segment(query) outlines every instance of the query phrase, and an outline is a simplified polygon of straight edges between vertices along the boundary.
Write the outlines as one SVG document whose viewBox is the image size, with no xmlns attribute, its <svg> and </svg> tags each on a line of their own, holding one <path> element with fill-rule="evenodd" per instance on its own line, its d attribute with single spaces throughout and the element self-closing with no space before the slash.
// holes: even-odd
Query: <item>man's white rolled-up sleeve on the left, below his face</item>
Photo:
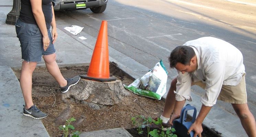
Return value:
<svg viewBox="0 0 256 137">
<path fill-rule="evenodd" d="M 174 93 L 176 94 L 175 99 L 177 101 L 192 101 L 190 89 L 191 82 L 192 80 L 190 73 L 186 72 L 182 74 L 180 71 L 178 71 L 176 91 L 174 91 Z"/>
</svg>

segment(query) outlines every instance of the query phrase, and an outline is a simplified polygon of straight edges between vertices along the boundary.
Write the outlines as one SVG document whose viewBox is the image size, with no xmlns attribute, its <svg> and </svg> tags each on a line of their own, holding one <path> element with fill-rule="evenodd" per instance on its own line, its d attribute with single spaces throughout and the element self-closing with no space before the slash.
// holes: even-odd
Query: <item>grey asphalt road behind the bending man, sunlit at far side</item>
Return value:
<svg viewBox="0 0 256 137">
<path fill-rule="evenodd" d="M 109 46 L 152 68 L 170 51 L 188 40 L 212 36 L 230 42 L 244 56 L 249 108 L 256 117 L 256 2 L 254 0 L 109 0 L 107 9 L 94 14 L 89 9 L 56 12 L 56 20 L 85 27 L 97 38 L 101 20 L 108 21 Z M 194 87 L 199 96 L 203 90 Z M 217 104 L 235 113 L 230 104 Z"/>
</svg>

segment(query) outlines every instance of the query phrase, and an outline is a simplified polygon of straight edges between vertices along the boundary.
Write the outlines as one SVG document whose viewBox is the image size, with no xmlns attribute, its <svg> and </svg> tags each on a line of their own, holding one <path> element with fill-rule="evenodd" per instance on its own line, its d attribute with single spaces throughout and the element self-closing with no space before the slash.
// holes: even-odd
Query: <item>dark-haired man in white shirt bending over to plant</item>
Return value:
<svg viewBox="0 0 256 137">
<path fill-rule="evenodd" d="M 172 50 L 169 62 L 178 75 L 171 82 L 160 116 L 163 126 L 170 127 L 180 116 L 185 101 L 192 101 L 191 86 L 198 85 L 205 89 L 205 95 L 188 132 L 194 130 L 194 136 L 201 137 L 202 122 L 218 99 L 231 103 L 247 135 L 256 137 L 255 119 L 247 105 L 243 55 L 236 47 L 218 38 L 202 37 Z"/>
</svg>

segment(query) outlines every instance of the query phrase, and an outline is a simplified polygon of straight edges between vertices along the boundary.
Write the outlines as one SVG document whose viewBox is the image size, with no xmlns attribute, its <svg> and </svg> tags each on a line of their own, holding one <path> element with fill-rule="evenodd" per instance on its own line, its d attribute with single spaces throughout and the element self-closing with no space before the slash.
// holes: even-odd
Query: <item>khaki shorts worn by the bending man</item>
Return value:
<svg viewBox="0 0 256 137">
<path fill-rule="evenodd" d="M 202 81 L 192 82 L 192 85 L 198 85 L 203 89 L 205 89 L 206 86 Z M 243 74 L 241 82 L 236 86 L 222 85 L 218 100 L 233 104 L 247 103 L 245 75 Z"/>
</svg>

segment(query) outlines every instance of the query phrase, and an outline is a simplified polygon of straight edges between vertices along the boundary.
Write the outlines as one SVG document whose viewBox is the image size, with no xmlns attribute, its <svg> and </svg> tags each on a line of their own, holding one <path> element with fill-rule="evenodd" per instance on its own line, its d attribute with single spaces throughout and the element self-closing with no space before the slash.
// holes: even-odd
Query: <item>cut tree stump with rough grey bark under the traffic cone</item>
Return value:
<svg viewBox="0 0 256 137">
<path fill-rule="evenodd" d="M 80 79 L 67 93 L 58 94 L 57 100 L 73 98 L 80 103 L 88 104 L 92 109 L 101 109 L 106 105 L 120 103 L 122 98 L 129 94 L 130 92 L 124 89 L 121 80 L 97 82 Z"/>
</svg>

